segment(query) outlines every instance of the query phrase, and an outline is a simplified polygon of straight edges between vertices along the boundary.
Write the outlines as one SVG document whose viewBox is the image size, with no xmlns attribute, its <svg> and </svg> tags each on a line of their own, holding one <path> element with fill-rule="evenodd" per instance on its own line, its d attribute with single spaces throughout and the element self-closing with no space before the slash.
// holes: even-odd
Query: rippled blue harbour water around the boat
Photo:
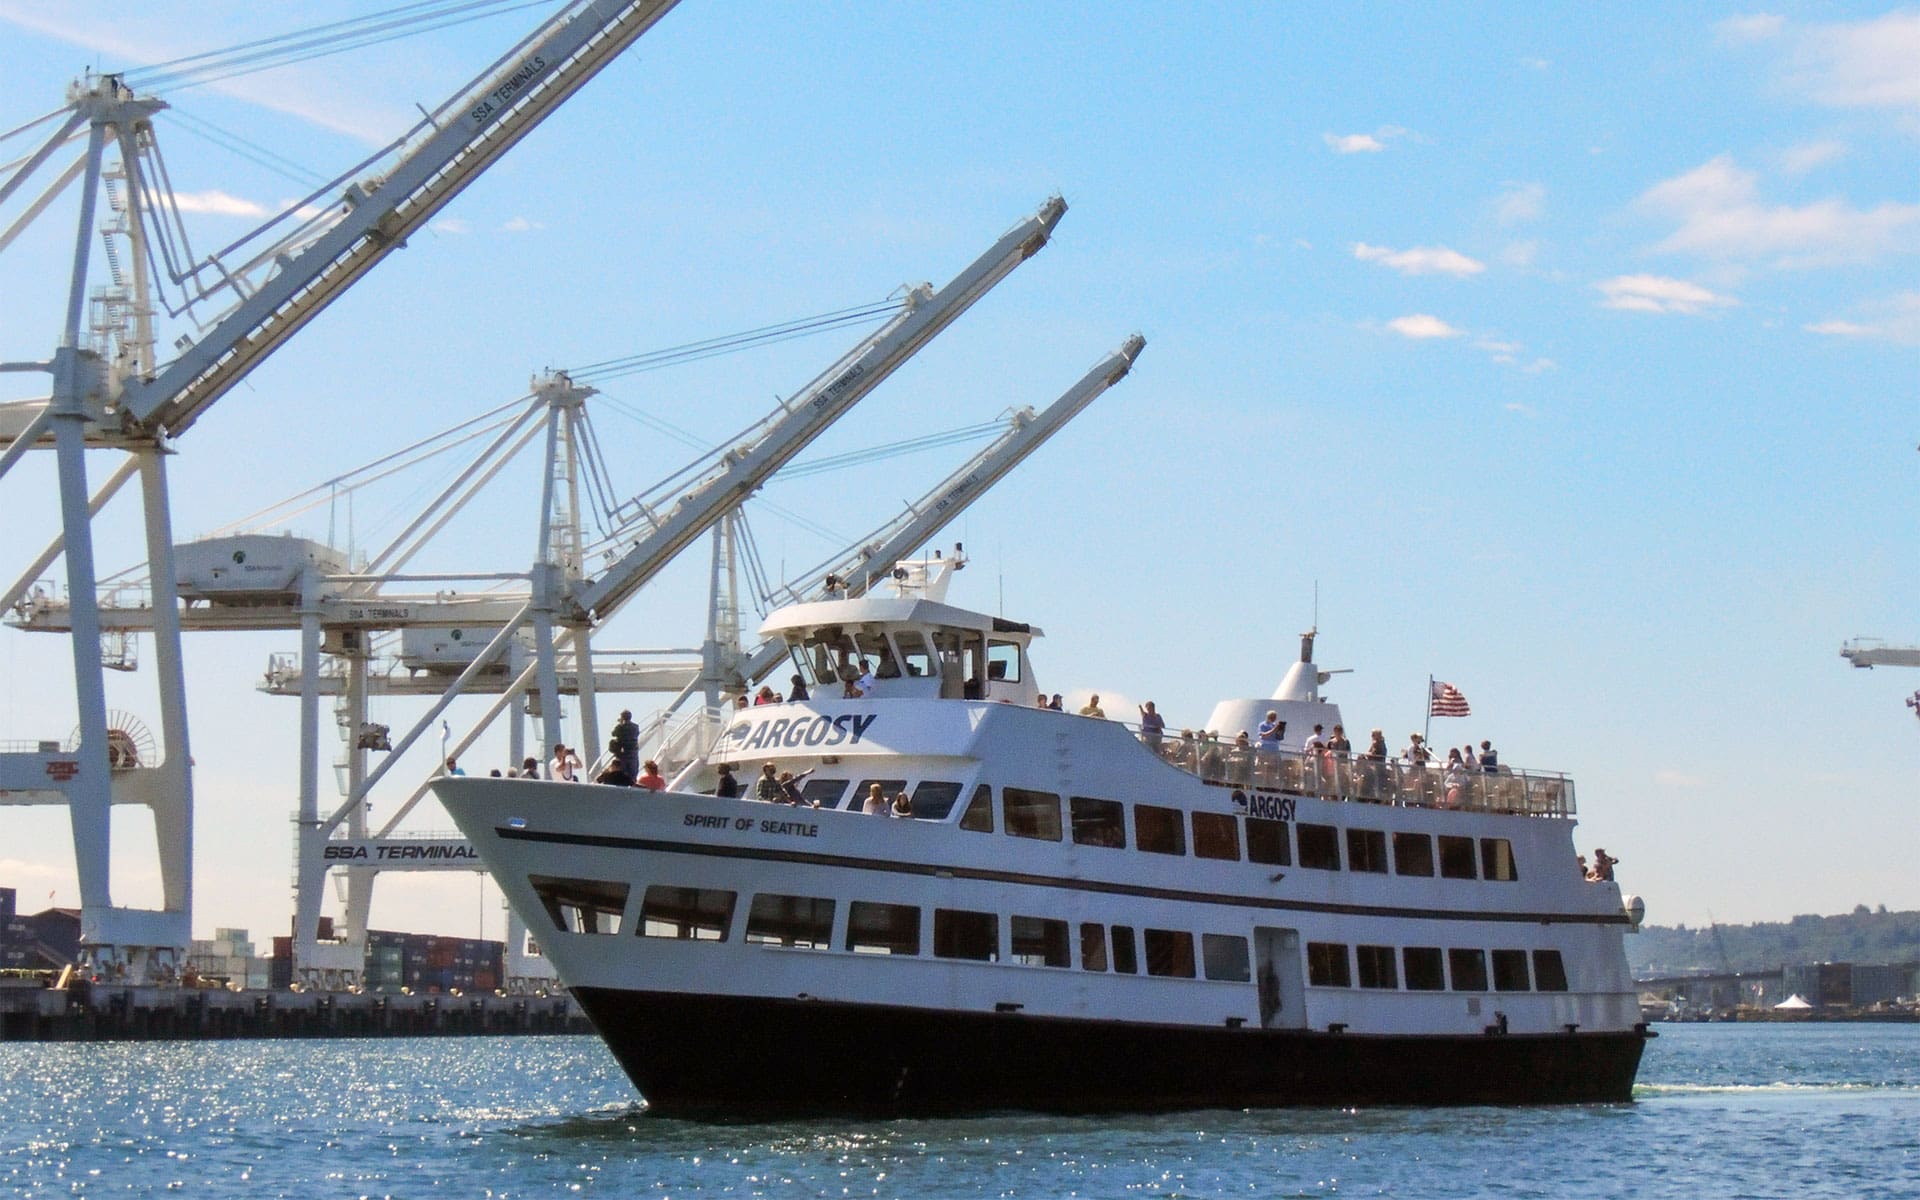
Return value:
<svg viewBox="0 0 1920 1200">
<path fill-rule="evenodd" d="M 858 1125 L 649 1117 L 589 1037 L 4 1044 L 0 1187 L 303 1200 L 1920 1194 L 1920 1025 L 1661 1033 L 1620 1106 Z"/>
</svg>

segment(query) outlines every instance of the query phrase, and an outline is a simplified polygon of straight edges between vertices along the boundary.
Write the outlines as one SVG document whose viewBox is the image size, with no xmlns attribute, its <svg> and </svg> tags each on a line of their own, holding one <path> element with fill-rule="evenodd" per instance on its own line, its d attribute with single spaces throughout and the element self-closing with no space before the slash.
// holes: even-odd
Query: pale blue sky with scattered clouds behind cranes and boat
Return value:
<svg viewBox="0 0 1920 1200">
<path fill-rule="evenodd" d="M 88 65 L 372 8 L 0 0 L 0 127 Z M 330 177 L 532 17 L 165 98 Z M 198 242 L 300 194 L 159 129 Z M 1920 672 L 1836 653 L 1920 643 L 1916 165 L 1914 8 L 687 0 L 182 440 L 175 528 L 513 399 L 547 365 L 945 282 L 1058 190 L 1052 246 L 808 451 L 1043 405 L 1144 332 L 1133 376 L 948 538 L 973 555 L 954 599 L 1048 632 L 1044 685 L 1204 720 L 1273 689 L 1317 588 L 1321 662 L 1354 668 L 1331 687 L 1348 724 L 1398 745 L 1427 676 L 1452 680 L 1475 714 L 1434 735 L 1571 772 L 1580 847 L 1622 860 L 1649 920 L 1920 908 L 1901 705 Z M 0 357 L 46 355 L 69 246 L 65 215 L 0 257 Z M 718 442 L 852 340 L 609 396 Z M 691 457 L 614 411 L 599 428 L 634 492 Z M 766 499 L 851 538 L 964 455 Z M 10 578 L 58 528 L 48 480 L 33 463 L 0 482 Z M 430 493 L 361 505 L 355 536 Z M 522 568 L 536 503 L 530 474 L 503 478 L 430 564 Z M 774 507 L 753 520 L 776 576 L 835 549 Z M 138 557 L 125 520 L 100 557 Z M 695 551 L 609 641 L 693 645 L 703 588 Z M 188 643 L 198 929 L 286 920 L 294 705 L 253 684 L 292 641 Z M 0 739 L 63 735 L 65 647 L 0 647 Z M 144 678 L 111 684 L 157 724 Z M 73 902 L 63 818 L 10 808 L 0 829 L 0 885 Z M 148 902 L 129 858 L 115 895 Z M 484 914 L 499 933 L 470 881 L 380 897 L 376 924 Z"/>
</svg>

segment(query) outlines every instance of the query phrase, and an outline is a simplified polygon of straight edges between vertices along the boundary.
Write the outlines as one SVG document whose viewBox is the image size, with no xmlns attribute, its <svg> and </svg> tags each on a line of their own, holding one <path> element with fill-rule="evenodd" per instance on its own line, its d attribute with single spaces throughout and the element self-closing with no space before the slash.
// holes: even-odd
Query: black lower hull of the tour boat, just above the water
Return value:
<svg viewBox="0 0 1920 1200">
<path fill-rule="evenodd" d="M 1645 1033 L 1379 1037 L 576 989 L 660 1116 L 1632 1098 Z"/>
</svg>

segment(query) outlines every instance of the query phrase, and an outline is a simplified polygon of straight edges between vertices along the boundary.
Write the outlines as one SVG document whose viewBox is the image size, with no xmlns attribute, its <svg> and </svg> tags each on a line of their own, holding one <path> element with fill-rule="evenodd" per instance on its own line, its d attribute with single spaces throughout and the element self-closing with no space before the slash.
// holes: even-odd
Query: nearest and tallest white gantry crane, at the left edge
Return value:
<svg viewBox="0 0 1920 1200">
<path fill-rule="evenodd" d="M 48 741 L 35 751 L 0 755 L 0 803 L 69 806 L 83 956 L 102 972 L 165 977 L 190 937 L 192 778 L 163 451 L 674 4 L 572 0 L 424 113 L 403 138 L 202 261 L 186 253 L 179 207 L 157 156 L 154 117 L 165 104 L 136 94 L 123 77 L 77 83 L 52 123 L 54 132 L 0 182 L 0 205 L 6 205 L 63 146 L 84 138 L 81 157 L 54 173 L 0 228 L 4 252 L 21 228 L 81 180 L 60 342 L 44 361 L 0 363 L 0 371 L 36 371 L 52 380 L 44 399 L 0 405 L 0 476 L 27 449 L 50 445 L 61 509 L 60 538 L 4 593 L 0 607 L 12 605 L 54 557 L 65 555 L 79 743 Z M 104 257 L 113 278 L 92 298 L 96 321 L 88 328 L 83 321 L 102 194 L 111 215 Z M 127 242 L 125 255 L 117 253 L 113 238 Z M 177 307 L 169 309 L 159 294 L 165 284 L 177 290 Z M 219 305 L 227 307 L 213 313 Z M 198 340 L 175 342 L 180 353 L 167 363 L 156 355 L 159 311 L 190 313 L 205 328 Z M 131 455 L 94 495 L 86 482 L 88 445 Z M 154 580 L 163 758 L 127 766 L 111 760 L 90 522 L 136 472 Z M 159 910 L 111 902 L 109 808 L 115 801 L 146 803 L 154 810 L 163 877 Z"/>
</svg>

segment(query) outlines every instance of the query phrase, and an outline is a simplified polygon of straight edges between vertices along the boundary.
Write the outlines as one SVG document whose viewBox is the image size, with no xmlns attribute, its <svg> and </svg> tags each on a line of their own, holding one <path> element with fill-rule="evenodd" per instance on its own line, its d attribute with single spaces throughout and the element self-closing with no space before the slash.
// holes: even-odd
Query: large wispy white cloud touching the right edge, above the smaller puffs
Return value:
<svg viewBox="0 0 1920 1200">
<path fill-rule="evenodd" d="M 1684 175 L 1647 188 L 1634 202 L 1645 213 L 1678 221 L 1661 240 L 1663 253 L 1709 259 L 1772 259 L 1778 267 L 1864 261 L 1920 242 L 1920 204 L 1859 209 L 1839 198 L 1809 205 L 1768 205 L 1759 180 L 1722 154 Z"/>
</svg>

